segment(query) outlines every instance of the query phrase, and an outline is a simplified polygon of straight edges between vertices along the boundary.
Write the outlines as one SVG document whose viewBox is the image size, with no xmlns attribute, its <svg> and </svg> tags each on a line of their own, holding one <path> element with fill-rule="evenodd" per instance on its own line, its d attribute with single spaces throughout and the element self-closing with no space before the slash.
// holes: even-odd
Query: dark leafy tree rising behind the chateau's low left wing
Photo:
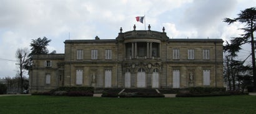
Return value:
<svg viewBox="0 0 256 114">
<path fill-rule="evenodd" d="M 51 42 L 51 40 L 48 40 L 46 37 L 44 38 L 37 38 L 36 40 L 32 39 L 32 42 L 30 43 L 31 53 L 29 53 L 29 59 L 26 63 L 26 69 L 29 69 L 30 66 L 32 66 L 32 58 L 34 55 L 40 55 L 40 54 L 48 54 L 49 51 L 47 50 L 48 43 Z"/>
</svg>

